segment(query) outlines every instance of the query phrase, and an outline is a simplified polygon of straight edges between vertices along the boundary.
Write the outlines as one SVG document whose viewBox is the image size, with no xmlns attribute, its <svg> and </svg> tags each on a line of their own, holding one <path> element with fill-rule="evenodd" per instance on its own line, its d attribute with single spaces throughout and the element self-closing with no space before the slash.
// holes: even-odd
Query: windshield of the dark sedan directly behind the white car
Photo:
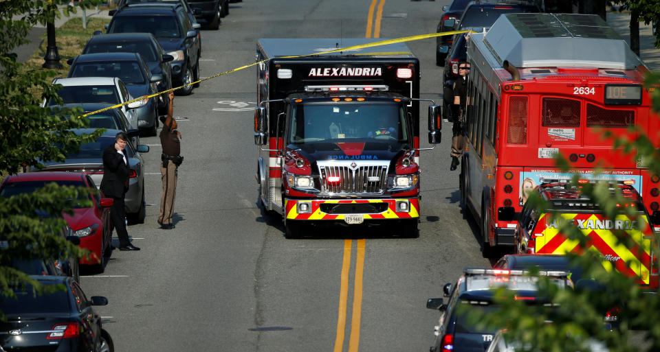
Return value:
<svg viewBox="0 0 660 352">
<path fill-rule="evenodd" d="M 78 62 L 69 77 L 118 77 L 125 84 L 144 84 L 144 73 L 137 61 Z"/>
</svg>

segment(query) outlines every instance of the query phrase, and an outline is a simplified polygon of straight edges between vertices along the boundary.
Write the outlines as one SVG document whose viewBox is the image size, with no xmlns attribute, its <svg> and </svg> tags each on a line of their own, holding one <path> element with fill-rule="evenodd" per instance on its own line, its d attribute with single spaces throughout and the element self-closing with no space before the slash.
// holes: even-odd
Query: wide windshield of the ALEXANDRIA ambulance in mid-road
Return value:
<svg viewBox="0 0 660 352">
<path fill-rule="evenodd" d="M 318 141 L 397 141 L 409 143 L 404 110 L 392 103 L 298 104 L 289 143 Z"/>
</svg>

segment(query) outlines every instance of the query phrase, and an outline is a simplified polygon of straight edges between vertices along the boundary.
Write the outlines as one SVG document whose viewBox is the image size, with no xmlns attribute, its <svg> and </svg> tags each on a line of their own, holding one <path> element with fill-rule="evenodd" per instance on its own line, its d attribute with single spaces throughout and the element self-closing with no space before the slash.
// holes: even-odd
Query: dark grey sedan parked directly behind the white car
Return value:
<svg viewBox="0 0 660 352">
<path fill-rule="evenodd" d="M 142 97 L 158 93 L 158 82 L 163 75 L 152 75 L 151 70 L 137 53 L 83 54 L 69 59 L 67 78 L 118 77 L 126 84 L 131 96 Z M 158 128 L 158 100 L 151 98 L 144 106 L 136 108 L 137 128 L 155 136 Z"/>
</svg>

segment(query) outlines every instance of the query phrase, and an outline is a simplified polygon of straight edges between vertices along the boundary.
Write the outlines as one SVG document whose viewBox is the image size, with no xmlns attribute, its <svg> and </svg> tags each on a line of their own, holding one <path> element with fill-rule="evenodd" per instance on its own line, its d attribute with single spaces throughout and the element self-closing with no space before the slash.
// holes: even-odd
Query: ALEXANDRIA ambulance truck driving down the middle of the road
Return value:
<svg viewBox="0 0 660 352">
<path fill-rule="evenodd" d="M 404 44 L 369 39 L 260 39 L 256 180 L 285 236 L 307 224 L 398 224 L 417 236 L 419 60 Z M 303 56 L 331 51 L 346 51 Z M 264 61 L 265 60 L 265 61 Z M 429 142 L 440 109 L 428 109 Z M 267 146 L 267 147 L 265 147 Z"/>
</svg>

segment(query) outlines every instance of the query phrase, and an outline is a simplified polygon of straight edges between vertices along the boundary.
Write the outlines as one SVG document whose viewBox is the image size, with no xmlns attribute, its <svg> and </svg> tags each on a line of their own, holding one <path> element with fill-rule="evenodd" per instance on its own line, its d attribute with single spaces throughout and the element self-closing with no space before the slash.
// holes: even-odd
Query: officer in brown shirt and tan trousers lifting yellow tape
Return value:
<svg viewBox="0 0 660 352">
<path fill-rule="evenodd" d="M 174 199 L 177 193 L 177 169 L 184 159 L 183 156 L 180 156 L 181 132 L 177 131 L 177 121 L 172 116 L 174 92 L 170 91 L 168 97 L 170 99 L 167 115 L 163 121 L 163 129 L 160 131 L 160 144 L 163 148 L 163 154 L 161 156 L 162 165 L 160 165 L 163 192 L 160 196 L 160 214 L 158 215 L 160 228 L 166 230 L 175 228 L 172 222 L 172 215 L 174 214 Z"/>
</svg>

